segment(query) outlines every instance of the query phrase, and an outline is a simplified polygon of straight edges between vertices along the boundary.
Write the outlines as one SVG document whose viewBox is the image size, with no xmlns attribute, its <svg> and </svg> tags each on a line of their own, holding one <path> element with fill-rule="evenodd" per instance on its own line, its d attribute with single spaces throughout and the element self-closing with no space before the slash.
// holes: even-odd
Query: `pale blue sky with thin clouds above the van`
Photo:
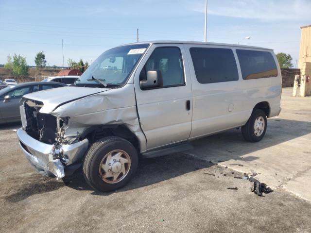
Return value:
<svg viewBox="0 0 311 233">
<path fill-rule="evenodd" d="M 300 27 L 311 24 L 311 0 L 208 0 L 207 41 L 252 45 L 299 57 Z M 14 53 L 35 65 L 82 58 L 147 40 L 204 40 L 205 0 L 0 0 L 0 64 Z M 250 39 L 245 37 L 250 36 Z M 298 64 L 298 63 L 297 63 Z"/>
</svg>

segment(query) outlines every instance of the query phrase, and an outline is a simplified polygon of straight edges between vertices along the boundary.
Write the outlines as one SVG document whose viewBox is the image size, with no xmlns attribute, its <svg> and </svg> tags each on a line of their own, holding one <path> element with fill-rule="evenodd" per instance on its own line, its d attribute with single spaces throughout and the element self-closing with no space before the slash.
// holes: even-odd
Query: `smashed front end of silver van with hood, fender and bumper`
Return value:
<svg viewBox="0 0 311 233">
<path fill-rule="evenodd" d="M 46 176 L 60 179 L 79 168 L 92 143 L 89 135 L 94 135 L 92 131 L 96 127 L 125 125 L 142 136 L 131 84 L 122 90 L 89 88 L 88 96 L 74 96 L 73 92 L 79 93 L 80 88 L 84 88 L 84 93 L 88 89 L 57 88 L 40 95 L 26 95 L 20 101 L 22 128 L 17 130 L 20 148 L 30 163 Z M 72 100 L 60 94 L 66 91 L 74 97 Z M 120 97 L 121 91 L 129 97 L 127 101 Z"/>
</svg>

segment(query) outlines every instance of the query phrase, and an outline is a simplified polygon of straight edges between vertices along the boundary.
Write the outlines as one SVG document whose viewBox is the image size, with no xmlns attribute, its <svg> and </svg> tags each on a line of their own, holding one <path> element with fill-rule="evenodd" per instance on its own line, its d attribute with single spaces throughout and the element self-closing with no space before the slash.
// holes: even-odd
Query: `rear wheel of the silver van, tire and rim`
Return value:
<svg viewBox="0 0 311 233">
<path fill-rule="evenodd" d="M 248 119 L 246 124 L 242 126 L 242 135 L 246 141 L 259 142 L 267 130 L 267 116 L 257 109 L 253 111 L 252 116 Z"/>
</svg>

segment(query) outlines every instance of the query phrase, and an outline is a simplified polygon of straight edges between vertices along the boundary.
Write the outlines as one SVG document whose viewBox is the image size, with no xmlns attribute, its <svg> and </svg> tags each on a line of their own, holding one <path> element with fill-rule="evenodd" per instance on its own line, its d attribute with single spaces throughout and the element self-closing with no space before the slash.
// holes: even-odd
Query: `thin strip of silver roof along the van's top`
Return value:
<svg viewBox="0 0 311 233">
<path fill-rule="evenodd" d="M 126 45 L 139 45 L 139 44 L 195 44 L 195 45 L 218 45 L 218 46 L 228 46 L 228 47 L 241 47 L 249 49 L 260 49 L 260 50 L 273 50 L 263 47 L 248 46 L 248 45 L 237 45 L 237 44 L 225 44 L 225 43 L 212 43 L 212 42 L 201 42 L 201 41 L 180 41 L 180 40 L 151 40 L 151 41 L 141 41 L 136 43 L 130 43 Z"/>
</svg>

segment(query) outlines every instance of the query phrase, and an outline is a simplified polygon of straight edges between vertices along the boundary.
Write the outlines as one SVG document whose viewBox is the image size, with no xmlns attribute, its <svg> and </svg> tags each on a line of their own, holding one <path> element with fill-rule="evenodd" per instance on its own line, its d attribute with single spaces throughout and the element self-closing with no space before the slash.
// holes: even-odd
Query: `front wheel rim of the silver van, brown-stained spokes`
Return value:
<svg viewBox="0 0 311 233">
<path fill-rule="evenodd" d="M 131 168 L 131 158 L 124 150 L 112 150 L 102 159 L 99 173 L 106 183 L 119 183 Z"/>
</svg>

